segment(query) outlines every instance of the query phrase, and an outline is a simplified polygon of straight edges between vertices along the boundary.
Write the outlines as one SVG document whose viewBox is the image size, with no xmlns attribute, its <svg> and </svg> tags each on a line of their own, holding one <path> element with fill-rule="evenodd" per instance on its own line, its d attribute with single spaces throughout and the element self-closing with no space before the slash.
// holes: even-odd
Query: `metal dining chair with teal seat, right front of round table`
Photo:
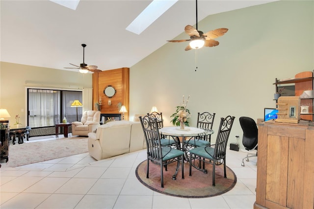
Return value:
<svg viewBox="0 0 314 209">
<path fill-rule="evenodd" d="M 212 164 L 212 185 L 215 185 L 215 165 L 224 164 L 224 177 L 227 178 L 226 174 L 226 148 L 229 139 L 230 131 L 234 123 L 235 117 L 227 116 L 226 118 L 221 118 L 219 130 L 217 133 L 216 143 L 207 146 L 196 147 L 190 150 L 189 156 L 189 176 L 192 175 L 192 166 L 197 170 L 207 173 L 206 169 L 201 169 L 199 166 L 195 166 L 194 162 L 201 160 L 205 163 Z M 214 147 L 212 147 L 214 146 Z"/>
</svg>

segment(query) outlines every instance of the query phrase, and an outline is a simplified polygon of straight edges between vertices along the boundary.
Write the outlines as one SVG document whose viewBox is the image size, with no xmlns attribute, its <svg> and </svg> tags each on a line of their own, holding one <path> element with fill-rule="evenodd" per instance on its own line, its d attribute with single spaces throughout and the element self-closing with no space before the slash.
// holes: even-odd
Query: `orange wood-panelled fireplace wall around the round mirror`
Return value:
<svg viewBox="0 0 314 209">
<path fill-rule="evenodd" d="M 99 98 L 102 99 L 101 113 L 119 113 L 117 107 L 119 102 L 121 102 L 122 105 L 125 105 L 129 111 L 129 78 L 129 68 L 119 68 L 93 74 L 93 104 L 99 102 Z M 107 98 L 104 95 L 104 89 L 107 85 L 113 86 L 117 91 L 116 95 L 112 98 Z M 111 100 L 111 105 L 108 105 L 109 99 Z M 96 109 L 95 105 L 94 109 Z M 124 117 L 125 120 L 129 120 L 129 112 L 125 113 Z"/>
</svg>

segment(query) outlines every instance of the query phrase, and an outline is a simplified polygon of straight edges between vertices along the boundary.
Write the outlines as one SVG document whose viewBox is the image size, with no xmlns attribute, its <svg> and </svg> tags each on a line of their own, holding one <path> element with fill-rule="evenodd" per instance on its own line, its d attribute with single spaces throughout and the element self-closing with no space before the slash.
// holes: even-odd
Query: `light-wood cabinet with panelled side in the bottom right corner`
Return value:
<svg viewBox="0 0 314 209">
<path fill-rule="evenodd" d="M 254 209 L 314 208 L 314 123 L 259 124 Z"/>
</svg>

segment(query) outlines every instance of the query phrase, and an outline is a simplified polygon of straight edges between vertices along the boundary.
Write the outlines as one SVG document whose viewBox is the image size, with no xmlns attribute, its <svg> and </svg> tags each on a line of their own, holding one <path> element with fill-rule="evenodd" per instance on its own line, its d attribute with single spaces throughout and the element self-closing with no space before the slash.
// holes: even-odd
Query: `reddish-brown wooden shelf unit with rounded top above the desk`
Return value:
<svg viewBox="0 0 314 209">
<path fill-rule="evenodd" d="M 294 76 L 294 78 L 288 78 L 288 79 L 281 79 L 278 80 L 275 79 L 274 85 L 276 85 L 276 92 L 278 92 L 279 87 L 282 84 L 289 84 L 294 83 L 294 95 L 291 96 L 300 96 L 303 94 L 305 90 L 313 90 L 313 72 L 307 71 L 298 73 Z M 282 95 L 286 96 L 286 95 Z M 313 121 L 314 111 L 313 111 L 313 95 L 311 98 L 308 99 L 301 99 L 300 105 L 301 106 L 309 106 L 309 113 L 301 114 L 300 118 L 302 120 L 310 120 Z"/>
</svg>

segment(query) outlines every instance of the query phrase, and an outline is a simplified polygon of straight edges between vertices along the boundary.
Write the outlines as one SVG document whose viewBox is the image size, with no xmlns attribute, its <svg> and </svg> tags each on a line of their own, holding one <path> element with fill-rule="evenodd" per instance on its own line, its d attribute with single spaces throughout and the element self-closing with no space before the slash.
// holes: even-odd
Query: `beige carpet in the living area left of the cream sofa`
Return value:
<svg viewBox="0 0 314 209">
<path fill-rule="evenodd" d="M 59 138 L 9 146 L 9 166 L 16 167 L 87 153 L 87 137 Z"/>
</svg>

